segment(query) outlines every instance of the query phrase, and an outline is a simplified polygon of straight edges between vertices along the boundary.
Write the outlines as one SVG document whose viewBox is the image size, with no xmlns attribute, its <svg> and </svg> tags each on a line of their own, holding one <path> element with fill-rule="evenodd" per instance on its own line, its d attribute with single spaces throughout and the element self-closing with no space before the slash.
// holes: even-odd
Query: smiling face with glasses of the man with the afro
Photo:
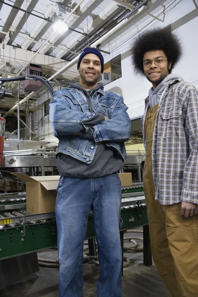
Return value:
<svg viewBox="0 0 198 297">
<path fill-rule="evenodd" d="M 158 59 L 163 60 L 161 64 L 154 64 L 154 61 Z M 149 80 L 152 83 L 153 90 L 157 85 L 169 74 L 168 70 L 171 68 L 171 62 L 168 62 L 167 56 L 163 50 L 150 50 L 145 52 L 143 57 L 143 63 L 150 62 L 151 64 L 146 67 L 144 66 L 144 72 Z"/>
</svg>

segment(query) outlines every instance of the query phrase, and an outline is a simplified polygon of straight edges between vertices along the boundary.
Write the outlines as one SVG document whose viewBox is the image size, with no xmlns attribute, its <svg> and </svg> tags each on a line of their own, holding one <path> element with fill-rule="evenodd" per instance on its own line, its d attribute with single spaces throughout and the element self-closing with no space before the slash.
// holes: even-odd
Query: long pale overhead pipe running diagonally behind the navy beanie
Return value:
<svg viewBox="0 0 198 297">
<path fill-rule="evenodd" d="M 137 16 L 140 16 L 140 15 L 146 13 L 147 10 L 149 10 L 151 7 L 152 7 L 152 2 L 151 2 L 151 0 L 149 0 L 148 3 L 143 7 L 143 9 L 141 11 L 139 11 L 136 15 L 134 14 L 134 16 L 137 17 Z M 124 19 L 119 24 L 117 24 L 114 28 L 112 28 L 108 33 L 106 33 L 104 36 L 102 36 L 101 38 L 99 38 L 99 40 L 97 40 L 95 43 L 93 43 L 92 45 L 90 45 L 90 47 L 91 48 L 96 47 L 97 45 L 99 45 L 100 43 L 102 43 L 103 41 L 105 41 L 106 39 L 108 39 L 114 32 L 120 30 L 123 26 L 125 26 L 128 22 L 132 21 L 133 19 L 134 19 L 134 17 L 129 18 L 129 19 Z M 52 79 L 55 79 L 57 76 L 59 76 L 60 74 L 62 74 L 63 72 L 65 72 L 67 69 L 69 69 L 70 67 L 72 67 L 78 61 L 79 57 L 80 57 L 80 54 L 78 56 L 76 56 L 68 64 L 66 64 L 64 67 L 62 67 L 61 69 L 59 69 L 52 76 L 50 76 L 47 81 L 50 81 Z M 35 95 L 35 92 L 31 92 L 28 96 L 26 96 L 24 99 L 22 99 L 20 101 L 20 104 L 26 102 L 27 100 L 29 100 L 30 98 L 32 98 L 34 95 Z M 10 110 L 8 110 L 3 115 L 3 117 L 5 118 L 9 113 L 12 113 L 16 109 L 16 107 L 17 107 L 17 104 L 14 105 Z"/>
</svg>

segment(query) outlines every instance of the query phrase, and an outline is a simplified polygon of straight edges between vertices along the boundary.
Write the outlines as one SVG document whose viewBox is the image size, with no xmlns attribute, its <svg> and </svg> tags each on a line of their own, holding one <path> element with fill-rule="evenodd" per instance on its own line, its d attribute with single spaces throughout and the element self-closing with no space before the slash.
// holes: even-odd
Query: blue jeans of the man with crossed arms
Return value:
<svg viewBox="0 0 198 297">
<path fill-rule="evenodd" d="M 59 297 L 83 296 L 83 245 L 91 207 L 99 253 L 98 297 L 122 296 L 120 206 L 117 173 L 88 179 L 61 176 L 55 205 Z"/>
</svg>

